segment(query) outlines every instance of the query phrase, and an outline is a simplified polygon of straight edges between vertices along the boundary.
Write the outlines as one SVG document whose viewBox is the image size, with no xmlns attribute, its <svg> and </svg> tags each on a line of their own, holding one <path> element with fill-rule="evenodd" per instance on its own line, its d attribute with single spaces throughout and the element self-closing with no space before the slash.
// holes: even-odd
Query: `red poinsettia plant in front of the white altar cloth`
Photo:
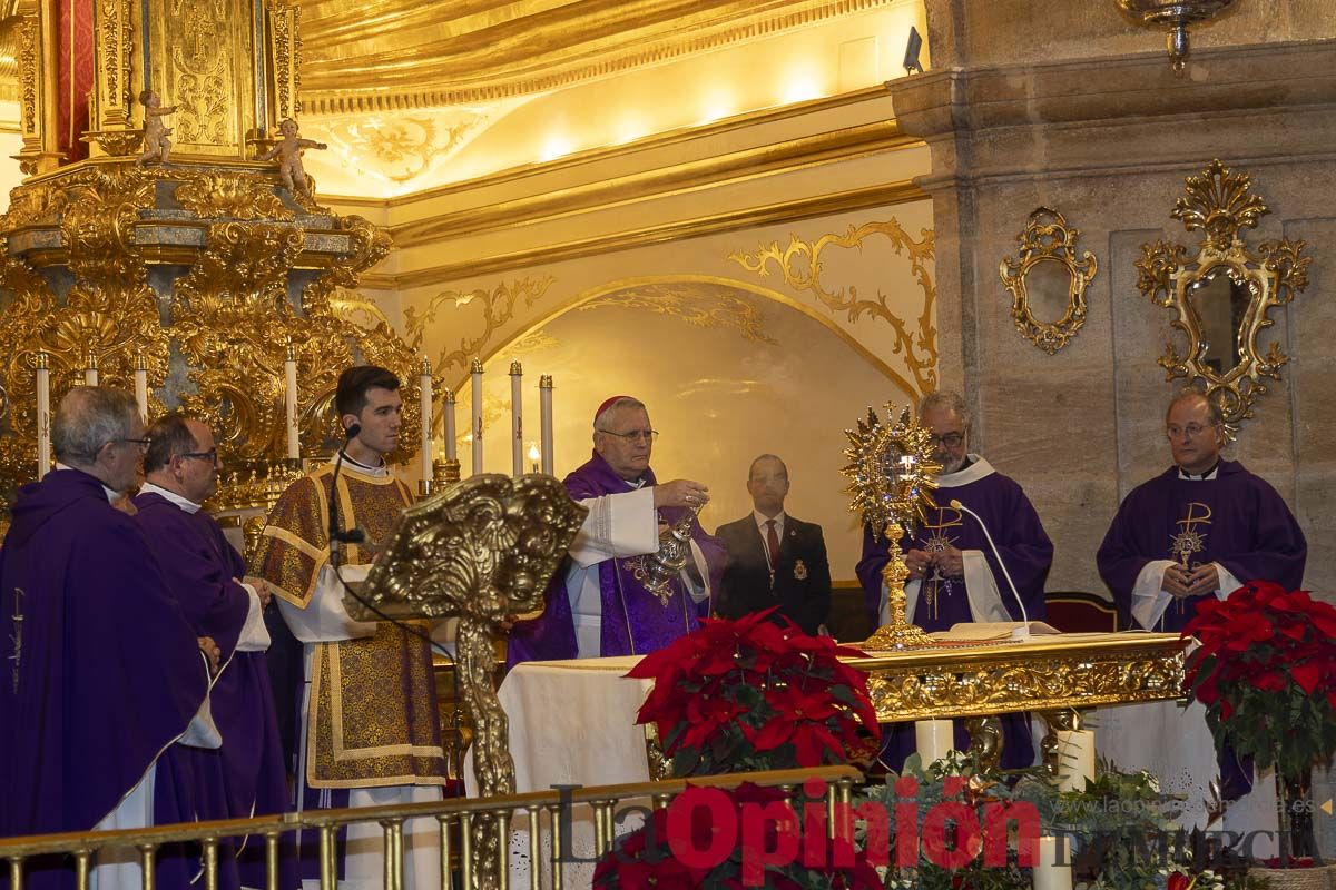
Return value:
<svg viewBox="0 0 1336 890">
<path fill-rule="evenodd" d="M 675 775 L 848 763 L 878 750 L 867 677 L 839 660 L 863 652 L 770 614 L 703 620 L 632 669 L 655 681 L 637 722 L 657 725 Z"/>
</svg>

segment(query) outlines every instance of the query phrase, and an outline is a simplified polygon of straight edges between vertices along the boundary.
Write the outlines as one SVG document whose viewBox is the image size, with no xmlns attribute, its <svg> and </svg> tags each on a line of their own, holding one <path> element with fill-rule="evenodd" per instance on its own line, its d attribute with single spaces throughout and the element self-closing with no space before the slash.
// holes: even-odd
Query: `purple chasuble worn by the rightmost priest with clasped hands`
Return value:
<svg viewBox="0 0 1336 890">
<path fill-rule="evenodd" d="M 1146 563 L 1184 556 L 1193 568 L 1216 562 L 1240 582 L 1271 580 L 1297 590 L 1308 543 L 1276 490 L 1237 460 L 1221 460 L 1214 479 L 1180 479 L 1178 467 L 1169 467 L 1132 490 L 1096 556 L 1120 626 L 1137 626 L 1132 588 Z M 1169 603 L 1153 630 L 1182 630 L 1197 603 L 1214 596 Z"/>
</svg>

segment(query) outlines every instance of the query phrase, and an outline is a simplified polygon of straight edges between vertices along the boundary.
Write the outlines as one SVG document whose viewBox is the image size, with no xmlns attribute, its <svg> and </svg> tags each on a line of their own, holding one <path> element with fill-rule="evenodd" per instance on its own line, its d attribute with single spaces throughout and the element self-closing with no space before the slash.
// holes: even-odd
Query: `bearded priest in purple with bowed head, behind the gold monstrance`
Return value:
<svg viewBox="0 0 1336 890">
<path fill-rule="evenodd" d="M 1053 563 L 1053 543 L 1030 499 L 1019 484 L 970 454 L 970 414 L 958 394 L 930 392 L 919 404 L 918 416 L 933 431 L 934 460 L 942 464 L 942 472 L 937 478 L 937 508 L 929 511 L 926 524 L 900 542 L 910 570 L 906 614 L 927 631 L 950 630 L 965 622 L 1042 620 L 1043 582 Z M 951 507 L 953 499 L 979 518 Z M 987 523 L 1006 572 L 979 519 Z M 884 536 L 864 528 L 863 558 L 856 571 L 874 627 L 890 620 L 882 586 L 882 568 L 888 559 Z M 1007 583 L 1007 574 L 1015 591 Z M 1002 729 L 1002 766 L 1030 766 L 1034 739 L 1029 717 L 1005 714 Z M 898 770 L 914 750 L 914 733 L 906 723 L 890 735 L 883 759 Z M 955 735 L 955 747 L 966 750 L 969 737 L 961 721 Z"/>
</svg>

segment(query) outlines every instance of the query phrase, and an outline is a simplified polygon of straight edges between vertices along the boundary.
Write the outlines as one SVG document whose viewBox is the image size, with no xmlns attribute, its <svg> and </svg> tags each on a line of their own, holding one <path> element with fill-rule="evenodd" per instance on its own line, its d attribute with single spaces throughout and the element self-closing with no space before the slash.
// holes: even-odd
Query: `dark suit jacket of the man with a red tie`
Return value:
<svg viewBox="0 0 1336 890">
<path fill-rule="evenodd" d="M 826 620 L 831 604 L 831 568 L 826 559 L 822 527 L 784 515 L 784 538 L 779 542 L 779 568 L 771 587 L 766 547 L 752 514 L 719 527 L 715 535 L 728 548 L 719 614 L 740 618 L 748 612 L 779 606 L 808 634 Z"/>
</svg>

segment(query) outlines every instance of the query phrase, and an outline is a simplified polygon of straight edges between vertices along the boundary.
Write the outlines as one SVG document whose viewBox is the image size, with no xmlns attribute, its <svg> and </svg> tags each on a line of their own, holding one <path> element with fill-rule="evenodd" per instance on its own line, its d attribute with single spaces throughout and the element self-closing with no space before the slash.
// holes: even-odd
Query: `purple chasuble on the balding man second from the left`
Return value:
<svg viewBox="0 0 1336 890">
<path fill-rule="evenodd" d="M 226 667 L 210 693 L 223 746 L 191 749 L 196 813 L 200 819 L 246 819 L 291 809 L 278 714 L 265 652 L 238 652 L 236 639 L 250 610 L 250 594 L 235 578 L 246 563 L 218 522 L 203 510 L 190 514 L 150 491 L 135 498 L 135 520 L 162 566 L 168 588 L 199 636 L 212 636 Z M 283 890 L 299 883 L 291 837 L 279 846 Z M 240 881 L 265 886 L 263 838 L 238 839 Z"/>
</svg>

